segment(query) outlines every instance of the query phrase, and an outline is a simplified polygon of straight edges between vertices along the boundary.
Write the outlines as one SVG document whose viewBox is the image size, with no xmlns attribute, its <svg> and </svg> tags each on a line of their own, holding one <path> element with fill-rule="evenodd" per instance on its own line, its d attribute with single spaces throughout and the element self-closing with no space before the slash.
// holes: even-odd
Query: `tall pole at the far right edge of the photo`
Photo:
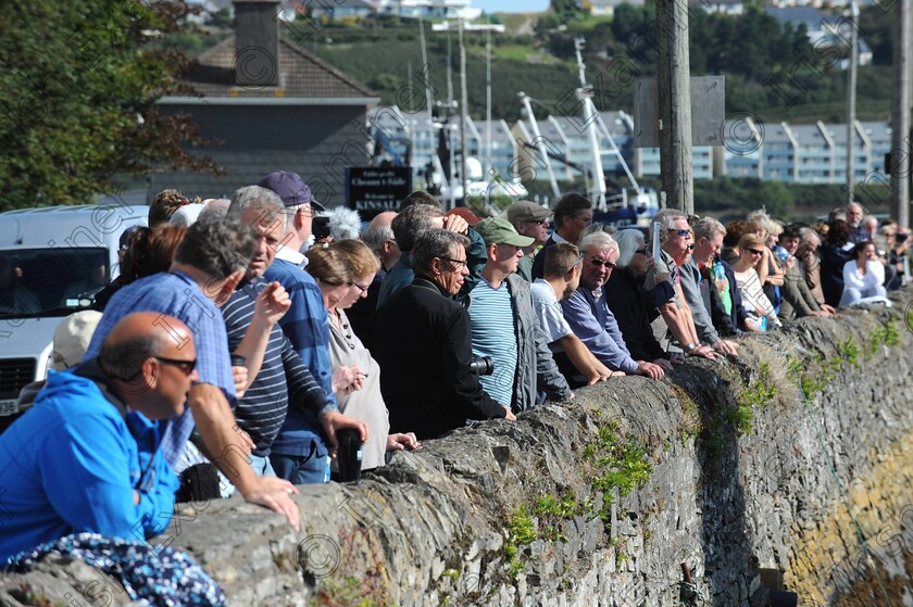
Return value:
<svg viewBox="0 0 913 607">
<path fill-rule="evenodd" d="M 891 109 L 891 191 L 897 223 L 910 227 L 910 0 L 897 3 L 895 97 Z"/>
</svg>

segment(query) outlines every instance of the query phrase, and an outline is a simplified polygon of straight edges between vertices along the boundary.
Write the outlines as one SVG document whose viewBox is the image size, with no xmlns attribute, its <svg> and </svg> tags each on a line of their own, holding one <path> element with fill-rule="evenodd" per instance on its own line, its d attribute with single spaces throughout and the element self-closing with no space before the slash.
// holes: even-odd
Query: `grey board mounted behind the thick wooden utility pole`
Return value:
<svg viewBox="0 0 913 607">
<path fill-rule="evenodd" d="M 634 92 L 635 148 L 660 147 L 658 103 L 656 79 L 638 79 Z M 691 146 L 723 146 L 725 119 L 725 77 L 691 77 Z"/>
</svg>

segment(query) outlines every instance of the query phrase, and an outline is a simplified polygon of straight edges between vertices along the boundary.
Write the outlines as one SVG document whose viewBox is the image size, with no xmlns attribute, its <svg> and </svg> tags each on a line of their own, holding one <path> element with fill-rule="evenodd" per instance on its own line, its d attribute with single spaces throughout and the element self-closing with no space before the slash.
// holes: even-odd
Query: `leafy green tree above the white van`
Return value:
<svg viewBox="0 0 913 607">
<path fill-rule="evenodd" d="M 201 139 L 155 100 L 182 90 L 183 2 L 4 2 L 0 8 L 0 210 L 91 202 L 117 174 L 211 170 Z"/>
</svg>

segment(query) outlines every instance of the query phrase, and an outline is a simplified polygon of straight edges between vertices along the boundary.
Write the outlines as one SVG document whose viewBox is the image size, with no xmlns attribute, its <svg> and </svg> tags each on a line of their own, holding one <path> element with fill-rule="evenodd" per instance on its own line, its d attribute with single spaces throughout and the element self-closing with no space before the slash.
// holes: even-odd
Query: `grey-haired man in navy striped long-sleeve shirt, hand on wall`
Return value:
<svg viewBox="0 0 913 607">
<path fill-rule="evenodd" d="M 367 439 L 367 426 L 339 413 L 277 324 L 290 302 L 283 287 L 266 282 L 263 274 L 285 233 L 284 207 L 276 193 L 259 186 L 235 192 L 228 207 L 228 216 L 240 219 L 257 238 L 245 280 L 222 315 L 229 351 L 246 356 L 249 376 L 254 378 L 238 402 L 235 417 L 253 440 L 251 466 L 261 476 L 275 476 L 270 447 L 289 406 L 313 413 L 333 445 L 340 428 L 355 428 L 362 442 Z"/>
</svg>

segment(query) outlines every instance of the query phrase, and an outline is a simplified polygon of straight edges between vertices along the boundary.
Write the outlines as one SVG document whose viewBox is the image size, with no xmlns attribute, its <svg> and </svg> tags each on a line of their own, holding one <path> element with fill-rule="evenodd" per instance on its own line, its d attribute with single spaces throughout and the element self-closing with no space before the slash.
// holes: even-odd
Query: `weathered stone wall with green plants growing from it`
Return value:
<svg viewBox="0 0 913 607">
<path fill-rule="evenodd" d="M 152 544 L 245 606 L 674 606 L 683 562 L 703 605 L 763 605 L 762 569 L 804 606 L 908 605 L 910 298 L 428 441 L 359 485 L 302 488 L 300 533 L 235 498 L 183 507 Z M 29 604 L 23 584 L 127 604 L 99 579 L 58 560 L 2 579 L 0 605 Z"/>
</svg>

